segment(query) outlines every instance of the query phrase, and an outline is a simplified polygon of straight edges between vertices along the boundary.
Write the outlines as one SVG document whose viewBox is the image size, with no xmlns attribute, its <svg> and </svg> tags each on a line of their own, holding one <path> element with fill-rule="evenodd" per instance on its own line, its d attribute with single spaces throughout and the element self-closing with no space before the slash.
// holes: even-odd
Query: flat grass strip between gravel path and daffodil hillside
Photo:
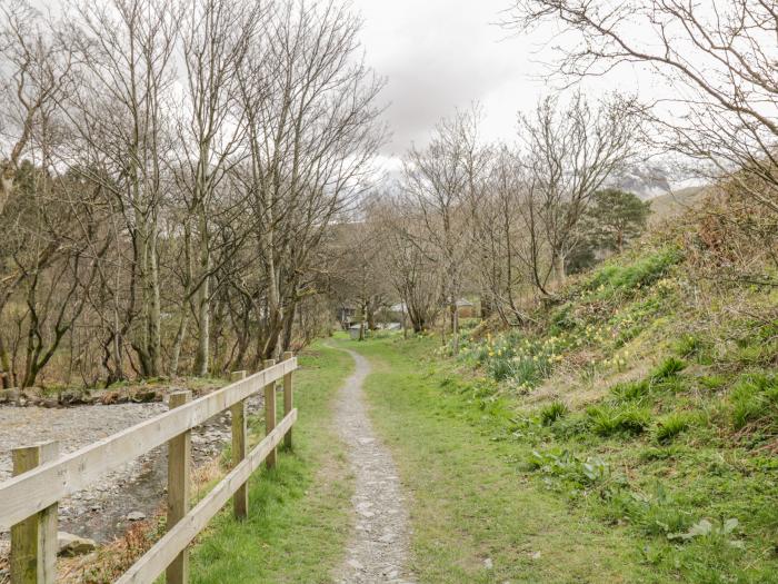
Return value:
<svg viewBox="0 0 778 584">
<path fill-rule="evenodd" d="M 664 582 L 622 527 L 571 509 L 522 471 L 532 447 L 459 390 L 431 339 L 341 342 L 370 358 L 371 418 L 409 495 L 419 582 Z"/>
</svg>

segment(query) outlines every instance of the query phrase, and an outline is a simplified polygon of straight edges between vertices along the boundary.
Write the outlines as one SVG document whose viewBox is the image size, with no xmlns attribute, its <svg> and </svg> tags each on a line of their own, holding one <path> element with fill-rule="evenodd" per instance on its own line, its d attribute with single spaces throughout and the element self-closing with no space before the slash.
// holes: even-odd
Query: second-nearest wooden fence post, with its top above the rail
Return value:
<svg viewBox="0 0 778 584">
<path fill-rule="evenodd" d="M 170 394 L 170 409 L 191 402 L 191 392 Z M 183 432 L 168 442 L 168 531 L 189 512 L 191 491 L 191 430 Z M 184 550 L 166 571 L 168 584 L 189 582 L 189 552 Z"/>
</svg>

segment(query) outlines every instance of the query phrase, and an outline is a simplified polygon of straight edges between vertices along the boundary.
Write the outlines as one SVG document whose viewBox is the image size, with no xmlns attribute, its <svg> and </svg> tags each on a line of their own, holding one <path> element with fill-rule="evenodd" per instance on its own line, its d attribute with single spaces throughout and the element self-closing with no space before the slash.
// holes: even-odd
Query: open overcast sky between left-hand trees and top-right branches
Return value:
<svg viewBox="0 0 778 584">
<path fill-rule="evenodd" d="M 559 43 L 551 24 L 527 36 L 496 26 L 510 0 L 352 0 L 365 19 L 366 58 L 387 78 L 382 98 L 392 138 L 388 157 L 423 145 L 437 120 L 473 100 L 483 107 L 483 137 L 511 140 L 517 111 L 553 89 L 542 62 Z M 549 42 L 550 39 L 553 39 Z M 589 92 L 634 90 L 629 72 L 589 81 Z"/>
</svg>

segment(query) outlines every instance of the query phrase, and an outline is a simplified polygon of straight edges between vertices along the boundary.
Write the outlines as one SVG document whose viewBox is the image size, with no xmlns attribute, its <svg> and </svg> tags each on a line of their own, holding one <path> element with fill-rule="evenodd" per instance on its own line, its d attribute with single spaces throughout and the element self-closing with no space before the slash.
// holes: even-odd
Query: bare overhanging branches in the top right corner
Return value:
<svg viewBox="0 0 778 584">
<path fill-rule="evenodd" d="M 714 176 L 744 169 L 736 175 L 742 191 L 778 212 L 774 1 L 520 0 L 510 16 L 509 27 L 552 20 L 577 34 L 577 44 L 558 60 L 567 79 L 601 76 L 622 63 L 648 65 L 670 88 L 644 110 L 661 130 L 660 146 L 692 157 L 698 170 L 707 162 Z"/>
</svg>

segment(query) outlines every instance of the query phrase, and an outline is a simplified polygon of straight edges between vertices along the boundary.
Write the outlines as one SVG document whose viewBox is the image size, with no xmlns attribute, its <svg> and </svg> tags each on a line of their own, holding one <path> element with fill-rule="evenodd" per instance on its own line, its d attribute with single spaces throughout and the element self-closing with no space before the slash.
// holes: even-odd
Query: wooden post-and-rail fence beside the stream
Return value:
<svg viewBox="0 0 778 584">
<path fill-rule="evenodd" d="M 233 499 L 238 519 L 248 513 L 247 482 L 262 462 L 276 464 L 276 447 L 291 446 L 297 409 L 292 407 L 292 372 L 297 358 L 283 354 L 251 376 L 232 374 L 232 383 L 191 399 L 191 392 L 170 395 L 170 410 L 58 457 L 54 443 L 13 451 L 13 478 L 0 483 L 0 531 L 11 531 L 11 583 L 50 584 L 56 578 L 58 502 L 148 451 L 168 444 L 167 533 L 117 582 L 149 583 L 162 572 L 169 584 L 189 580 L 187 546 L 221 507 Z M 283 379 L 283 419 L 276 420 L 276 385 Z M 247 452 L 246 399 L 265 389 L 266 437 Z M 232 468 L 190 508 L 191 429 L 231 410 Z"/>
</svg>

